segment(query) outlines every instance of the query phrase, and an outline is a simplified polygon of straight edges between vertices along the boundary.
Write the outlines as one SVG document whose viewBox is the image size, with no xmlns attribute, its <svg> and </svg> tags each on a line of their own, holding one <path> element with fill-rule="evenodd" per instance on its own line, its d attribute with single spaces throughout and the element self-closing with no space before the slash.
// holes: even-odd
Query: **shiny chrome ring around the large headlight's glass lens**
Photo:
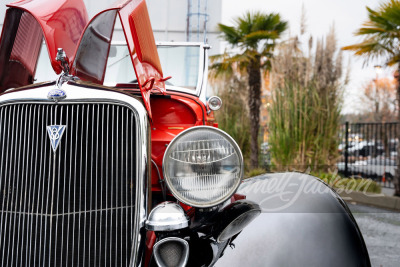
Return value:
<svg viewBox="0 0 400 267">
<path fill-rule="evenodd" d="M 206 203 L 196 203 L 195 201 L 192 201 L 190 199 L 184 198 L 181 196 L 181 194 L 176 190 L 176 188 L 174 187 L 174 185 L 172 184 L 170 177 L 168 176 L 169 173 L 169 164 L 168 164 L 168 157 L 171 154 L 171 149 L 173 147 L 175 147 L 175 144 L 178 143 L 184 136 L 186 136 L 189 133 L 192 133 L 194 131 L 211 131 L 214 132 L 218 135 L 220 135 L 222 138 L 224 138 L 228 143 L 230 143 L 230 145 L 233 147 L 234 151 L 236 152 L 237 155 L 237 160 L 239 161 L 239 173 L 238 173 L 238 177 L 239 178 L 232 178 L 232 179 L 236 179 L 236 181 L 234 182 L 233 186 L 230 188 L 230 190 L 223 196 L 220 197 L 219 199 L 210 199 L 210 201 L 206 202 Z M 228 135 L 226 132 L 215 128 L 215 127 L 211 127 L 211 126 L 195 126 L 195 127 L 191 127 L 185 131 L 182 131 L 180 134 L 178 134 L 172 141 L 171 143 L 168 145 L 167 149 L 165 150 L 164 153 L 164 158 L 163 158 L 163 174 L 164 174 L 164 181 L 166 182 L 169 190 L 171 191 L 171 193 L 174 195 L 174 197 L 179 200 L 180 202 L 192 206 L 192 207 L 196 207 L 196 208 L 210 208 L 210 207 L 214 207 L 217 206 L 223 202 L 225 202 L 226 200 L 228 200 L 229 198 L 232 197 L 232 195 L 235 194 L 235 192 L 237 191 L 241 181 L 243 180 L 243 174 L 244 174 L 244 164 L 243 164 L 243 155 L 242 152 L 238 146 L 238 144 L 235 142 L 235 140 Z"/>
</svg>

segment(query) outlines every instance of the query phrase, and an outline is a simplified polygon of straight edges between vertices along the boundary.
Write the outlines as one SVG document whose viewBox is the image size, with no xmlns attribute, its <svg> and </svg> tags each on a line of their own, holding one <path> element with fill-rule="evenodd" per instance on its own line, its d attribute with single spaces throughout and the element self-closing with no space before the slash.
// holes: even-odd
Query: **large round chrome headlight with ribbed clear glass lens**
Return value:
<svg viewBox="0 0 400 267">
<path fill-rule="evenodd" d="M 164 178 L 181 202 L 199 208 L 230 198 L 243 177 L 243 156 L 224 131 L 192 127 L 176 136 L 163 159 Z"/>
</svg>

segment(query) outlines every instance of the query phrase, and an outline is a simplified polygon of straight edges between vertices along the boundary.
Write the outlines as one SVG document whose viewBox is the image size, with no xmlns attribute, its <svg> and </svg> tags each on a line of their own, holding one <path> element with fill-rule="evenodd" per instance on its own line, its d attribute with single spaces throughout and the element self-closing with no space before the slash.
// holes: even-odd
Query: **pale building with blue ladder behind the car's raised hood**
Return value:
<svg viewBox="0 0 400 267">
<path fill-rule="evenodd" d="M 3 26 L 6 4 L 1 1 L 0 23 Z M 89 18 L 106 9 L 115 0 L 84 0 Z M 210 54 L 218 54 L 220 40 L 217 24 L 221 21 L 222 0 L 146 0 L 156 41 L 204 42 Z M 121 26 L 116 26 L 114 40 L 124 40 Z M 119 28 L 119 29 L 118 29 Z"/>
</svg>

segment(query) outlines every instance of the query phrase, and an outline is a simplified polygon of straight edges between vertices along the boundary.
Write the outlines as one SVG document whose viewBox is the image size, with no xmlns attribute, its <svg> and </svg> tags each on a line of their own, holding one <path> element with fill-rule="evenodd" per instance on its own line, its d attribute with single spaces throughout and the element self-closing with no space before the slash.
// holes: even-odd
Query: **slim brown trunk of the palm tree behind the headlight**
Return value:
<svg viewBox="0 0 400 267">
<path fill-rule="evenodd" d="M 247 67 L 249 75 L 249 111 L 250 111 L 250 127 L 251 127 L 251 168 L 258 167 L 258 133 L 260 130 L 260 106 L 261 106 L 261 70 L 260 60 L 254 59 Z"/>
</svg>

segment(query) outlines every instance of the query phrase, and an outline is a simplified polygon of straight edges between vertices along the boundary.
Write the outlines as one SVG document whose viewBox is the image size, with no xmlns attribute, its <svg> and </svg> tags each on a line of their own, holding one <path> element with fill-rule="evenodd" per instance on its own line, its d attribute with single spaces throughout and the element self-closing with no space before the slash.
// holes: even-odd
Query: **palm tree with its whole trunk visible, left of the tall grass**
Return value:
<svg viewBox="0 0 400 267">
<path fill-rule="evenodd" d="M 234 69 L 247 75 L 252 167 L 258 166 L 261 70 L 270 68 L 276 40 L 287 29 L 287 25 L 279 14 L 262 12 L 247 12 L 234 20 L 234 26 L 218 24 L 221 37 L 232 46 L 234 52 L 212 57 L 214 63 L 211 70 L 216 76 Z"/>
</svg>

